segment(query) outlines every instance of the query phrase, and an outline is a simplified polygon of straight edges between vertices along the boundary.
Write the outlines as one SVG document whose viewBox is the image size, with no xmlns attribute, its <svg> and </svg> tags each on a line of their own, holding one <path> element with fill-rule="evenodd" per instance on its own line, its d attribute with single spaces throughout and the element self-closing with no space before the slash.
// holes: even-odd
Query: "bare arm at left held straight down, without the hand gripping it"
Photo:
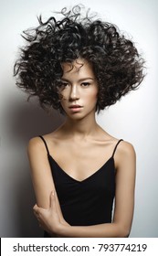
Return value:
<svg viewBox="0 0 158 256">
<path fill-rule="evenodd" d="M 49 208 L 50 193 L 52 190 L 56 192 L 56 188 L 47 159 L 47 150 L 45 144 L 39 137 L 35 137 L 29 141 L 27 154 L 31 168 L 32 183 L 37 199 L 37 206 L 40 208 Z M 67 222 L 63 218 L 59 206 L 58 197 L 57 209 L 60 221 L 63 224 L 66 224 Z"/>
</svg>

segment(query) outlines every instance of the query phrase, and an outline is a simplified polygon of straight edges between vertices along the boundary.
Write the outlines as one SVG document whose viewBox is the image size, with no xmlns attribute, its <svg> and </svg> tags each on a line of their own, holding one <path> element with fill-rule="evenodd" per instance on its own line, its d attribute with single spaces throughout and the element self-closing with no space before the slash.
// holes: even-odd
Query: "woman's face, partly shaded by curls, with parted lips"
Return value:
<svg viewBox="0 0 158 256">
<path fill-rule="evenodd" d="M 63 76 L 59 93 L 61 106 L 70 118 L 83 118 L 96 112 L 98 83 L 86 59 L 62 64 Z"/>
</svg>

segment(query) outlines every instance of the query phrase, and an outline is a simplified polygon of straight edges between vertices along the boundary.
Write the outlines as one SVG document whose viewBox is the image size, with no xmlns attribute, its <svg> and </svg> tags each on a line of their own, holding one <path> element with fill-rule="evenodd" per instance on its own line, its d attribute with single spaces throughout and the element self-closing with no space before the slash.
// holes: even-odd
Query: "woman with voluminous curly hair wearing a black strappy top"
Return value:
<svg viewBox="0 0 158 256">
<path fill-rule="evenodd" d="M 135 152 L 96 122 L 95 114 L 142 82 L 143 59 L 131 40 L 80 7 L 39 18 L 16 61 L 17 85 L 66 119 L 28 144 L 37 205 L 46 236 L 128 237 L 132 227 Z M 112 206 L 114 211 L 112 217 Z"/>
</svg>

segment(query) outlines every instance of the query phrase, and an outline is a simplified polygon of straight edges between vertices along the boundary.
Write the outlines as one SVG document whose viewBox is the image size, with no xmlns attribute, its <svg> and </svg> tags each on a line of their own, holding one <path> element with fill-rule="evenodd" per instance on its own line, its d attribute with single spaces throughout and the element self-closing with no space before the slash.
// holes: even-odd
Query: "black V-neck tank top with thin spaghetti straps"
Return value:
<svg viewBox="0 0 158 256">
<path fill-rule="evenodd" d="M 112 205 L 115 196 L 114 154 L 95 173 L 83 181 L 69 176 L 49 155 L 47 143 L 39 136 L 47 149 L 47 158 L 51 167 L 58 200 L 64 219 L 71 226 L 89 226 L 111 223 Z M 45 234 L 45 236 L 47 236 Z"/>
</svg>

